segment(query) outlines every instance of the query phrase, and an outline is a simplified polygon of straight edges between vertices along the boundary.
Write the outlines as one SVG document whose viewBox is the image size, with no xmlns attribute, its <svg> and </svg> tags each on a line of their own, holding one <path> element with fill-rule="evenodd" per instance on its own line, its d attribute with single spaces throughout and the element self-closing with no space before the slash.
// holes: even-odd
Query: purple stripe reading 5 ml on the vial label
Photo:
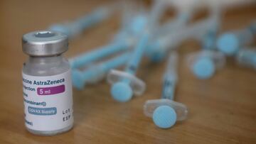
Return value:
<svg viewBox="0 0 256 144">
<path fill-rule="evenodd" d="M 38 95 L 52 95 L 52 94 L 60 94 L 65 92 L 65 85 L 60 85 L 56 87 L 38 87 L 37 93 Z"/>
</svg>

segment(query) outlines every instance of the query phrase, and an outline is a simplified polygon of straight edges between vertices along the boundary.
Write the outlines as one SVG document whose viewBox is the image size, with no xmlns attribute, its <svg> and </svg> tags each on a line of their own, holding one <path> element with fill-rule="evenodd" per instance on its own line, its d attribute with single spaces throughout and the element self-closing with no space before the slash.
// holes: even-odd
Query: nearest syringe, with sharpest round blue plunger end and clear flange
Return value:
<svg viewBox="0 0 256 144">
<path fill-rule="evenodd" d="M 171 52 L 163 79 L 161 99 L 148 100 L 144 104 L 144 114 L 153 118 L 159 128 L 171 128 L 176 121 L 183 121 L 188 115 L 186 105 L 174 101 L 177 82 L 178 54 Z"/>
</svg>

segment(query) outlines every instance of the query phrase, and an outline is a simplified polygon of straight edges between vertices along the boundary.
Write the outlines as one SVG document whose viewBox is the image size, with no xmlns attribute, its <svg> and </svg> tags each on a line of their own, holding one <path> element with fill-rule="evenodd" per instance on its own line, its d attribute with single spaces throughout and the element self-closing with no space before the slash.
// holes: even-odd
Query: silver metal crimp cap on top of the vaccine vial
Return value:
<svg viewBox="0 0 256 144">
<path fill-rule="evenodd" d="M 56 31 L 33 31 L 22 37 L 22 50 L 32 56 L 58 55 L 68 50 L 68 36 Z"/>
</svg>

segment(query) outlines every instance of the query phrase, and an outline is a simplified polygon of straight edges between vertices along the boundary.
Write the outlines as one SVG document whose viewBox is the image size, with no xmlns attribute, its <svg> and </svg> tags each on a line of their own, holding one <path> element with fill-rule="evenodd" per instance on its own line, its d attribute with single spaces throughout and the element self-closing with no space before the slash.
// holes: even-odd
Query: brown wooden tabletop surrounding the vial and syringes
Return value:
<svg viewBox="0 0 256 144">
<path fill-rule="evenodd" d="M 164 26 L 175 18 L 177 11 L 186 11 L 193 6 L 193 14 L 188 21 L 188 26 L 192 26 L 208 18 L 210 8 L 218 7 L 221 9 L 219 37 L 227 31 L 250 26 L 256 19 L 255 2 L 170 0 L 165 3 L 166 9 L 158 25 Z M 209 79 L 198 79 L 186 62 L 186 55 L 203 49 L 201 41 L 195 40 L 193 35 L 182 40 L 176 48 L 180 57 L 174 99 L 188 106 L 189 115 L 186 121 L 174 128 L 156 128 L 151 119 L 143 114 L 144 101 L 160 99 L 161 80 L 166 68 L 166 60 L 152 62 L 145 57 L 137 74 L 146 83 L 143 96 L 118 103 L 112 99 L 110 85 L 105 80 L 87 85 L 82 90 L 74 88 L 75 127 L 72 131 L 54 137 L 40 137 L 26 131 L 23 126 L 21 70 L 28 56 L 21 49 L 22 35 L 48 29 L 55 23 L 76 21 L 100 6 L 109 6 L 113 13 L 108 18 L 71 36 L 65 57 L 75 57 L 110 43 L 122 26 L 126 26 L 125 22 L 131 20 L 129 16 L 127 21 L 124 19 L 128 10 L 149 13 L 153 4 L 153 0 L 0 1 L 0 142 L 256 143 L 256 66 L 240 65 L 235 55 L 225 55 L 226 64 L 221 70 Z M 242 47 L 255 50 L 255 38 Z"/>
</svg>

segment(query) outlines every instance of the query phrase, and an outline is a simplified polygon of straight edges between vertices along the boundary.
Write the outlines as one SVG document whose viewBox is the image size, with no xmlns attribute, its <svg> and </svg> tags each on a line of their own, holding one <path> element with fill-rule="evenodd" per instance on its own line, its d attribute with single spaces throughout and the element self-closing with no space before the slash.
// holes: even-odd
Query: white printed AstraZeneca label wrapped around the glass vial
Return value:
<svg viewBox="0 0 256 144">
<path fill-rule="evenodd" d="M 73 124 L 71 72 L 47 77 L 22 73 L 26 127 L 56 131 Z"/>
</svg>

